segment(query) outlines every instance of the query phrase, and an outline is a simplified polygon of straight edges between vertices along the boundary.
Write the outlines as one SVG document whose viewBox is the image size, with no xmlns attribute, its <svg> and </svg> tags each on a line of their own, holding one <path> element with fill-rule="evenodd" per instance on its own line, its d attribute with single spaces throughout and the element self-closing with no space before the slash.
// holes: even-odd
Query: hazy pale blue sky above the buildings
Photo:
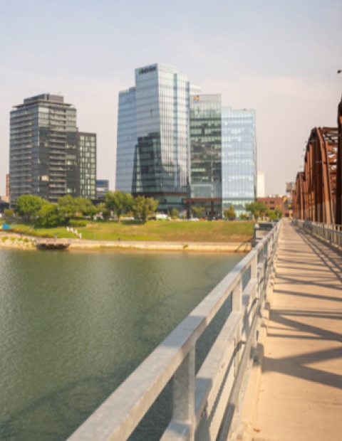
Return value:
<svg viewBox="0 0 342 441">
<path fill-rule="evenodd" d="M 284 193 L 311 129 L 337 124 L 341 19 L 341 0 L 0 0 L 0 195 L 11 107 L 45 92 L 97 133 L 97 177 L 114 189 L 118 91 L 153 63 L 255 109 L 257 169 Z"/>
</svg>

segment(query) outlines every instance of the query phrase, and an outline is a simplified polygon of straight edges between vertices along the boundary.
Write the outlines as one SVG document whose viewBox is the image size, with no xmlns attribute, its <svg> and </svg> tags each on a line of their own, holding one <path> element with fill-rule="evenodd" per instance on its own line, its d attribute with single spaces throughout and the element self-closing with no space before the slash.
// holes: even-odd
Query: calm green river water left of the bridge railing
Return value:
<svg viewBox="0 0 342 441">
<path fill-rule="evenodd" d="M 0 440 L 65 440 L 242 257 L 0 250 Z"/>
</svg>

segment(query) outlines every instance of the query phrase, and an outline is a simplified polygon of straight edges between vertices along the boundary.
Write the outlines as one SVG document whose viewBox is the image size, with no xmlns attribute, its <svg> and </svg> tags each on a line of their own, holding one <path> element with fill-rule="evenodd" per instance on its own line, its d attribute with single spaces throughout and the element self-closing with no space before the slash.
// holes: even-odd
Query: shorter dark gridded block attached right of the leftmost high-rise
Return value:
<svg viewBox="0 0 342 441">
<path fill-rule="evenodd" d="M 96 134 L 78 132 L 78 195 L 96 198 Z"/>
</svg>

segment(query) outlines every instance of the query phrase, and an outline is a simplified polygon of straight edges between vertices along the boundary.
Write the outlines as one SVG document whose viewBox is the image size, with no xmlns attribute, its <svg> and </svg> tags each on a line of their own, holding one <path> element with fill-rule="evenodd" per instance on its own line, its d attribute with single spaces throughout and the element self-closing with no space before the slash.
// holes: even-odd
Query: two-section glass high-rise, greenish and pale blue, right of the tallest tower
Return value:
<svg viewBox="0 0 342 441">
<path fill-rule="evenodd" d="M 239 216 L 256 197 L 257 144 L 254 110 L 221 107 L 221 95 L 190 97 L 190 204 L 222 216 Z"/>
</svg>

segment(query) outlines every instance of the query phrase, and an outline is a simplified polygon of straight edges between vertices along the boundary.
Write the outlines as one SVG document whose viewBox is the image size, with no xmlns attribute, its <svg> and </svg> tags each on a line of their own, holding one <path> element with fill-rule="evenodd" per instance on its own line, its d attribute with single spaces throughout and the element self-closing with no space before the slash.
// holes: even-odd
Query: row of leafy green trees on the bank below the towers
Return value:
<svg viewBox="0 0 342 441">
<path fill-rule="evenodd" d="M 71 219 L 92 217 L 101 213 L 103 218 L 109 218 L 112 211 L 118 221 L 125 216 L 135 216 L 143 223 L 147 217 L 155 213 L 158 201 L 145 196 L 133 197 L 123 191 L 108 191 L 105 201 L 95 206 L 89 199 L 66 195 L 58 198 L 57 203 L 51 203 L 38 196 L 22 195 L 16 200 L 16 214 L 30 221 L 35 219 L 41 227 L 55 227 L 67 225 Z M 5 216 L 14 214 L 12 210 L 6 210 Z"/>
</svg>

